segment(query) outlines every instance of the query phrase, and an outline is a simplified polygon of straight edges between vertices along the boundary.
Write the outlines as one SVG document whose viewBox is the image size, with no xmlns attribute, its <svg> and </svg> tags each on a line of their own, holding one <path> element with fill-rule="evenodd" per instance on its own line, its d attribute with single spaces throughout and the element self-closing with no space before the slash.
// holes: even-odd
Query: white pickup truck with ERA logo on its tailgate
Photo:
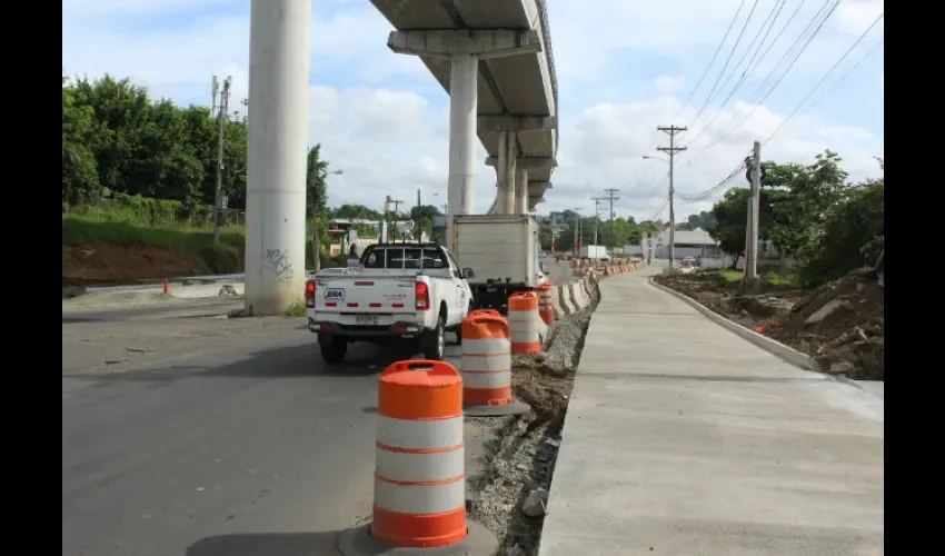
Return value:
<svg viewBox="0 0 945 556">
<path fill-rule="evenodd" d="M 308 328 L 329 364 L 341 363 L 352 341 L 419 342 L 427 359 L 441 360 L 447 330 L 462 341 L 472 276 L 439 245 L 376 244 L 361 255 L 357 274 L 306 282 Z"/>
</svg>

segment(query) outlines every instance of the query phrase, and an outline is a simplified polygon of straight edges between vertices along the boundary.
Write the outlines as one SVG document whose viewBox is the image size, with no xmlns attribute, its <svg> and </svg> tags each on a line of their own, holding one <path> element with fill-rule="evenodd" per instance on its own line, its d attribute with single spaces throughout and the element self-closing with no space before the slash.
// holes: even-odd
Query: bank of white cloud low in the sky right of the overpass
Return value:
<svg viewBox="0 0 945 556">
<path fill-rule="evenodd" d="M 555 173 L 554 195 L 548 195 L 545 210 L 573 208 L 575 203 L 590 210 L 589 197 L 605 187 L 620 188 L 617 202 L 619 214 L 630 214 L 647 219 L 658 209 L 667 191 L 666 162 L 647 160 L 644 156 L 662 157 L 657 146 L 667 146 L 668 137 L 657 126 L 667 125 L 679 110 L 679 100 L 665 97 L 625 105 L 597 105 L 581 113 L 574 129 L 563 129 L 559 167 Z M 747 113 L 755 107 L 736 105 L 723 111 L 716 126 L 737 113 Z M 695 110 L 684 109 L 678 121 L 693 118 Z M 775 113 L 760 107 L 734 133 L 713 145 L 718 135 L 713 128 L 693 126 L 677 135 L 677 145 L 689 150 L 677 155 L 675 183 L 677 192 L 677 218 L 692 212 L 708 210 L 720 197 L 720 192 L 707 202 L 689 203 L 686 197 L 695 197 L 710 189 L 727 176 L 748 153 L 755 140 L 764 141 L 784 121 L 786 115 Z M 737 120 L 736 120 L 737 121 Z M 862 179 L 877 173 L 874 156 L 882 156 L 883 140 L 876 133 L 855 126 L 829 123 L 795 116 L 770 140 L 763 142 L 765 160 L 812 163 L 814 156 L 824 149 L 838 151 L 843 166 L 852 179 Z M 593 185 L 593 186 L 591 186 Z M 727 187 L 744 185 L 742 172 Z M 664 219 L 667 212 L 662 212 Z"/>
</svg>

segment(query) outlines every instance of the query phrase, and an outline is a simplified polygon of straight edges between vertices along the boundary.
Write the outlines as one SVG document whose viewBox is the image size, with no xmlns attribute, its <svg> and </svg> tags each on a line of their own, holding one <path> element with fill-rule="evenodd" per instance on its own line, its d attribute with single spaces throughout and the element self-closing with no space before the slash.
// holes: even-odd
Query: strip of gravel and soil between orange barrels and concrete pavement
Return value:
<svg viewBox="0 0 945 556">
<path fill-rule="evenodd" d="M 499 537 L 501 556 L 538 554 L 568 398 L 595 307 L 559 319 L 543 353 L 513 358 L 513 391 L 531 413 L 505 425 L 486 474 L 467 488 L 470 517 Z"/>
</svg>

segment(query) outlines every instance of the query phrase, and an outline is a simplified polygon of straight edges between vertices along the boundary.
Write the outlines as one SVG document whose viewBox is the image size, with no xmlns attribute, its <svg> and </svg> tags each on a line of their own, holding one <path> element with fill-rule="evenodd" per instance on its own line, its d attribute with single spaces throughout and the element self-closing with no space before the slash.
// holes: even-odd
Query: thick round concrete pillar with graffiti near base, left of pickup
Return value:
<svg viewBox="0 0 945 556">
<path fill-rule="evenodd" d="M 246 311 L 305 295 L 311 0 L 252 0 L 246 188 Z"/>
</svg>

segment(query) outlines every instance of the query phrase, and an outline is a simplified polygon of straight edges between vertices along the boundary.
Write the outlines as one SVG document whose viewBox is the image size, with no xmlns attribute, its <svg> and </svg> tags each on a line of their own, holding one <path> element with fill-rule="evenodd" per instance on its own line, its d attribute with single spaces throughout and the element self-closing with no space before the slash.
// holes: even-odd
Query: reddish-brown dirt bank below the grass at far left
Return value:
<svg viewBox="0 0 945 556">
<path fill-rule="evenodd" d="M 62 246 L 62 285 L 128 284 L 150 278 L 211 274 L 195 255 L 163 247 L 82 244 Z"/>
</svg>

